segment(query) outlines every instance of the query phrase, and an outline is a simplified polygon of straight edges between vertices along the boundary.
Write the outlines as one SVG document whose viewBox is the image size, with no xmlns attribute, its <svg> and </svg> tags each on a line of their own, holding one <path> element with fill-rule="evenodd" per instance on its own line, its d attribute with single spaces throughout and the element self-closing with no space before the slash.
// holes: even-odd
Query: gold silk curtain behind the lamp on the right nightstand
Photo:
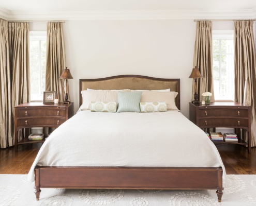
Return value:
<svg viewBox="0 0 256 206">
<path fill-rule="evenodd" d="M 199 101 L 202 100 L 202 93 L 204 92 L 211 92 L 213 94 L 211 101 L 214 101 L 212 53 L 212 22 L 199 21 L 197 22 L 194 44 L 194 66 L 199 68 L 200 74 L 203 77 L 198 79 L 197 92 Z M 194 91 L 192 91 L 193 93 Z"/>
</svg>

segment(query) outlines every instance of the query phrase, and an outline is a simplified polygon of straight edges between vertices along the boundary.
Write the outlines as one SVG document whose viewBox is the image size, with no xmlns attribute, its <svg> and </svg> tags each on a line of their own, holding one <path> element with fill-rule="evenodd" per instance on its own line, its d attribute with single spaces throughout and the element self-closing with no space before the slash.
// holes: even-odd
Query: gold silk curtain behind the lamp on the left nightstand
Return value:
<svg viewBox="0 0 256 206">
<path fill-rule="evenodd" d="M 46 53 L 46 91 L 55 91 L 56 98 L 63 102 L 64 80 L 59 78 L 66 66 L 62 22 L 48 22 Z"/>
</svg>

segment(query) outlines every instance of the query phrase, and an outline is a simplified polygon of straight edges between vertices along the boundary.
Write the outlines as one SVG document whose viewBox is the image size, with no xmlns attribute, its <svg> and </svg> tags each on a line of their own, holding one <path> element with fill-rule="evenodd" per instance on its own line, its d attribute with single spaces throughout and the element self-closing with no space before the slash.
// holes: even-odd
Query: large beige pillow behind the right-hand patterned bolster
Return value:
<svg viewBox="0 0 256 206">
<path fill-rule="evenodd" d="M 175 105 L 175 97 L 177 92 L 155 92 L 155 91 L 143 91 L 141 95 L 141 102 L 165 102 L 167 104 L 167 110 L 178 110 Z"/>
</svg>

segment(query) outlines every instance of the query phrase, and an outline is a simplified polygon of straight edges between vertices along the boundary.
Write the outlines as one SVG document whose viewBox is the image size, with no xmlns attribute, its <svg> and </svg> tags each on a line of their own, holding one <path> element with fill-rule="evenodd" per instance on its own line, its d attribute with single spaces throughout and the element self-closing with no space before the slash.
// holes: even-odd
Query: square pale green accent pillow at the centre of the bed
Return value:
<svg viewBox="0 0 256 206">
<path fill-rule="evenodd" d="M 142 92 L 117 92 L 117 112 L 140 112 Z"/>
</svg>

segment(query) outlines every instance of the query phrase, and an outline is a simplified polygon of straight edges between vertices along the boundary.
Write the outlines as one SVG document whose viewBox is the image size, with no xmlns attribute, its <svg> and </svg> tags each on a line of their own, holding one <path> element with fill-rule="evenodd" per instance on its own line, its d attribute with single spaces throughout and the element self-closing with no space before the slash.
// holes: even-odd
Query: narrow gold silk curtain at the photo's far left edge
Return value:
<svg viewBox="0 0 256 206">
<path fill-rule="evenodd" d="M 0 148 L 13 145 L 8 22 L 0 19 Z"/>
</svg>

